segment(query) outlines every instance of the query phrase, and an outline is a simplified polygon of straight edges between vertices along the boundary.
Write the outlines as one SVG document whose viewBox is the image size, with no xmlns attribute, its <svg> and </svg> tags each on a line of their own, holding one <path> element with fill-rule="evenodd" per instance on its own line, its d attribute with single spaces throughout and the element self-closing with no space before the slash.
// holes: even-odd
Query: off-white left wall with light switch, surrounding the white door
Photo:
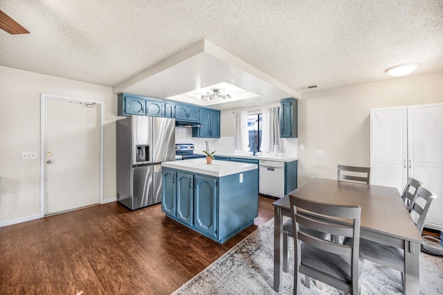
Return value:
<svg viewBox="0 0 443 295">
<path fill-rule="evenodd" d="M 111 87 L 0 66 L 0 224 L 40 214 L 40 160 L 21 160 L 21 152 L 37 151 L 39 158 L 41 93 L 105 102 L 103 198 L 116 198 L 118 117 Z"/>
</svg>

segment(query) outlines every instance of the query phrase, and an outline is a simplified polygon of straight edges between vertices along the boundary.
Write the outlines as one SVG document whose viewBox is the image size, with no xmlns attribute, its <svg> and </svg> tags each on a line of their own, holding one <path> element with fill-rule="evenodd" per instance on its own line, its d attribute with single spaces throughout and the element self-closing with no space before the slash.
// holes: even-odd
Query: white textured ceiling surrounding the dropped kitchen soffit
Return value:
<svg viewBox="0 0 443 295">
<path fill-rule="evenodd" d="M 443 71 L 443 1 L 1 0 L 0 65 L 115 87 L 202 39 L 301 93 Z M 179 79 L 177 77 L 176 79 Z"/>
</svg>

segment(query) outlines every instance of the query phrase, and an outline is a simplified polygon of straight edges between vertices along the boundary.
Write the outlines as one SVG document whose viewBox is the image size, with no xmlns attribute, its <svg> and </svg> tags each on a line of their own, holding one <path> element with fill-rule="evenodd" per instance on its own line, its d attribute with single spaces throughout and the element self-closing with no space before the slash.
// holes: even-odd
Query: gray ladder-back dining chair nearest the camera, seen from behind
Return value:
<svg viewBox="0 0 443 295">
<path fill-rule="evenodd" d="M 314 278 L 345 294 L 360 294 L 359 278 L 363 271 L 363 256 L 359 254 L 361 208 L 314 202 L 293 195 L 289 195 L 289 201 L 292 229 L 295 229 L 293 294 L 300 294 L 300 274 L 305 275 L 307 287 L 310 287 L 309 278 Z M 350 224 L 334 222 L 336 218 L 345 218 Z M 349 246 L 336 244 L 305 229 L 341 235 L 353 242 Z"/>
</svg>

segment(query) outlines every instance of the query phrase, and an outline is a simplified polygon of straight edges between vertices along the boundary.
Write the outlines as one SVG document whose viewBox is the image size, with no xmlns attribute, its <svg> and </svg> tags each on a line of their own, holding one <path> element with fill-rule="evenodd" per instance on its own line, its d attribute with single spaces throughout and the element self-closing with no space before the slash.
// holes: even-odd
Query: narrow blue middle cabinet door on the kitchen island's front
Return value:
<svg viewBox="0 0 443 295">
<path fill-rule="evenodd" d="M 177 172 L 177 219 L 192 225 L 194 176 Z"/>
</svg>

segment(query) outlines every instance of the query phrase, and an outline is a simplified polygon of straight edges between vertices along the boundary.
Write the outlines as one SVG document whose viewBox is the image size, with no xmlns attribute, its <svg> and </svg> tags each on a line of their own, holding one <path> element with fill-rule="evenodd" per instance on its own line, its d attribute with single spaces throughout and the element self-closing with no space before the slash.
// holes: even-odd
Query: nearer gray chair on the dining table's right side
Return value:
<svg viewBox="0 0 443 295">
<path fill-rule="evenodd" d="M 413 206 L 410 210 L 410 215 L 419 215 L 418 220 L 415 222 L 417 230 L 422 233 L 424 220 L 428 214 L 429 207 L 433 199 L 437 196 L 429 190 L 426 190 L 423 186 L 417 188 L 417 192 L 413 198 Z M 423 200 L 424 201 L 423 201 Z M 424 202 L 424 206 L 420 205 Z M 352 241 L 346 238 L 343 244 L 351 244 Z M 391 247 L 386 244 L 379 244 L 370 240 L 360 239 L 360 252 L 363 254 L 365 260 L 376 262 L 379 265 L 390 267 L 401 272 L 401 285 L 404 287 L 404 249 Z"/>
</svg>

